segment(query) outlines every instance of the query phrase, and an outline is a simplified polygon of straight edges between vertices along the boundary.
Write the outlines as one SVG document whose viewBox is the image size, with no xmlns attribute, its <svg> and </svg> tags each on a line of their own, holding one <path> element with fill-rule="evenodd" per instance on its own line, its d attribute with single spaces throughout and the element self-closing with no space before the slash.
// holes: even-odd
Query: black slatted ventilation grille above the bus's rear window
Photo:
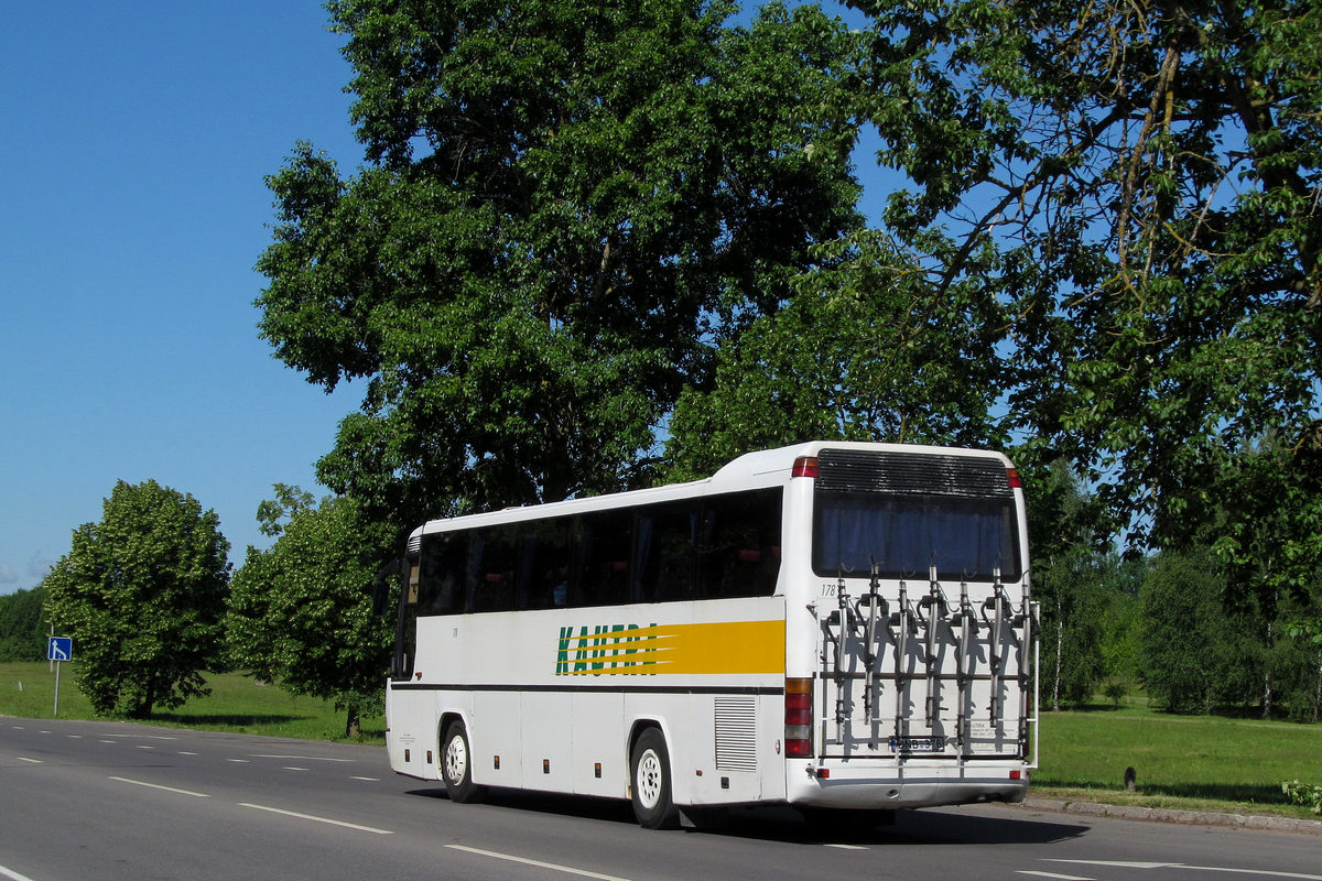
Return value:
<svg viewBox="0 0 1322 881">
<path fill-rule="evenodd" d="M 820 491 L 1010 498 L 999 460 L 941 453 L 871 453 L 824 449 Z"/>
</svg>

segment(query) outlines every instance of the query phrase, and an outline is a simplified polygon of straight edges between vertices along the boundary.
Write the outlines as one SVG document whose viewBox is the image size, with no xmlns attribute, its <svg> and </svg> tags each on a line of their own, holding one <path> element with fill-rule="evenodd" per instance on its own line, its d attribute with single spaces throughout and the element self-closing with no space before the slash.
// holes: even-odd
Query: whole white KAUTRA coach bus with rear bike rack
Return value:
<svg viewBox="0 0 1322 881">
<path fill-rule="evenodd" d="M 390 765 L 455 802 L 625 798 L 649 828 L 736 804 L 886 822 L 1022 800 L 1026 536 L 1005 456 L 859 442 L 428 522 L 408 539 Z"/>
</svg>

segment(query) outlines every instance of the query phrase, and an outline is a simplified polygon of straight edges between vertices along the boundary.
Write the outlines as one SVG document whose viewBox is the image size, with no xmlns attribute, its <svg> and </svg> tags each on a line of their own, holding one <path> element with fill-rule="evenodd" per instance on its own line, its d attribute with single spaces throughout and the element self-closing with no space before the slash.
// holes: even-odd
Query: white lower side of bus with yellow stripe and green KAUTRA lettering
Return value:
<svg viewBox="0 0 1322 881">
<path fill-rule="evenodd" d="M 677 803 L 781 798 L 784 616 L 761 597 L 422 618 L 405 773 L 438 779 L 455 713 L 475 782 L 624 798 L 637 722 L 666 734 Z"/>
</svg>

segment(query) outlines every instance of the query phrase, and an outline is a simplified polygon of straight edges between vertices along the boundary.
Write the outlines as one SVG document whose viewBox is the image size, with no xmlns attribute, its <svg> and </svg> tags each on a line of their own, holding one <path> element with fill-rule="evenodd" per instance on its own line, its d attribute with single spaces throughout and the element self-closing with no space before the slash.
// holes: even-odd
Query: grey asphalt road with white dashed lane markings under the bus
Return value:
<svg viewBox="0 0 1322 881">
<path fill-rule="evenodd" d="M 628 804 L 452 804 L 379 748 L 0 717 L 0 878 L 1317 878 L 1322 837 L 1006 807 L 902 814 L 865 837 L 785 808 L 649 832 Z"/>
</svg>

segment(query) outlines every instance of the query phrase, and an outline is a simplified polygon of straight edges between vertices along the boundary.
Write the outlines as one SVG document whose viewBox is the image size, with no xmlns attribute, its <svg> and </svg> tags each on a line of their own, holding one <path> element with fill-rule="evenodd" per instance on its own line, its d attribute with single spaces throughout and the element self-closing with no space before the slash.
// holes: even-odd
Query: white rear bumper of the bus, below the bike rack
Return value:
<svg viewBox="0 0 1322 881">
<path fill-rule="evenodd" d="M 1029 793 L 1025 765 L 915 765 L 849 761 L 789 761 L 787 800 L 800 807 L 898 810 L 1018 803 Z"/>
</svg>

